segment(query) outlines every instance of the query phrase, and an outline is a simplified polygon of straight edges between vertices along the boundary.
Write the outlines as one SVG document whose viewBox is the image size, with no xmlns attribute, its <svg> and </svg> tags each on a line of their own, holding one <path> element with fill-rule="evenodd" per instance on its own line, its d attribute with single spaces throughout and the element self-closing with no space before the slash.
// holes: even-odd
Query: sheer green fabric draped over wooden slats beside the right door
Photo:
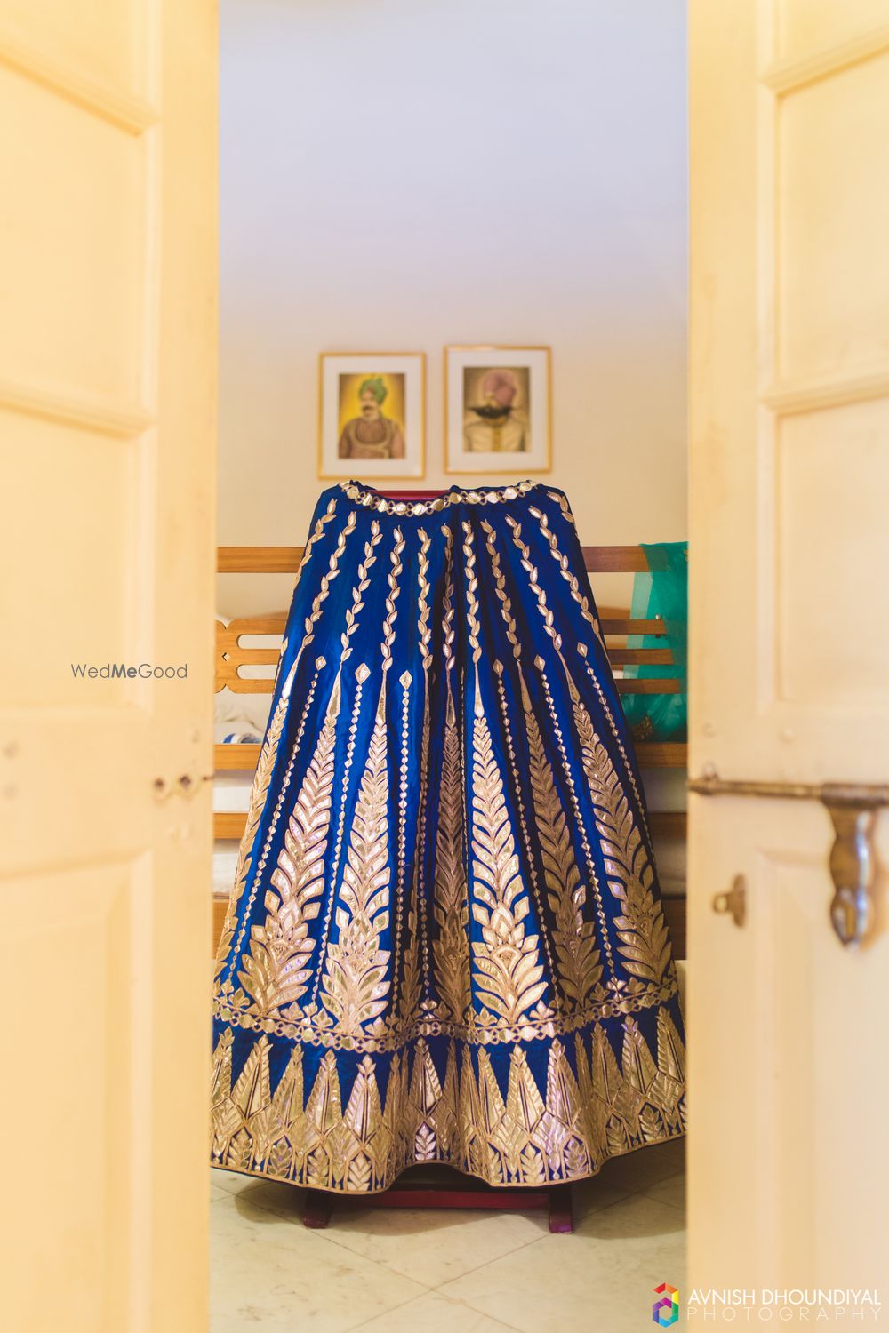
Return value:
<svg viewBox="0 0 889 1333">
<path fill-rule="evenodd" d="M 626 666 L 628 678 L 678 680 L 677 694 L 624 694 L 624 713 L 636 740 L 684 741 L 688 736 L 688 543 L 658 541 L 644 545 L 648 572 L 633 581 L 634 620 L 664 621 L 665 637 L 630 635 L 628 648 L 669 648 L 669 666 Z"/>
</svg>

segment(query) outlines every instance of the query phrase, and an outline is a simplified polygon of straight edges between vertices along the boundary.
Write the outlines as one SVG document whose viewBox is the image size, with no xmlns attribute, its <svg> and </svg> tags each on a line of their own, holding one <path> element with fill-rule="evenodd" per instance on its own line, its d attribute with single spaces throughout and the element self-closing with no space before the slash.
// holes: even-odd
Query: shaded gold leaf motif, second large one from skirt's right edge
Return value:
<svg viewBox="0 0 889 1333">
<path fill-rule="evenodd" d="M 553 770 L 544 750 L 542 737 L 524 678 L 521 680 L 521 698 L 528 729 L 530 789 L 544 862 L 544 880 L 549 905 L 556 917 L 553 944 L 558 957 L 558 973 L 565 996 L 576 1005 L 582 1005 L 602 974 L 596 948 L 596 932 L 593 922 L 584 920 L 586 889 L 580 880 L 565 812 L 556 792 Z"/>
</svg>

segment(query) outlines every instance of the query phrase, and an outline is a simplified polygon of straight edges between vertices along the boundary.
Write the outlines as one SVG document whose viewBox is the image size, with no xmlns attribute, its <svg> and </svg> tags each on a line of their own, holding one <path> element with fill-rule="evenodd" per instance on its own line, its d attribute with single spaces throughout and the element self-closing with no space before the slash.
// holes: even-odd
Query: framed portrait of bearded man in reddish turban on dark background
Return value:
<svg viewBox="0 0 889 1333">
<path fill-rule="evenodd" d="M 446 347 L 445 472 L 548 472 L 548 347 Z"/>
</svg>

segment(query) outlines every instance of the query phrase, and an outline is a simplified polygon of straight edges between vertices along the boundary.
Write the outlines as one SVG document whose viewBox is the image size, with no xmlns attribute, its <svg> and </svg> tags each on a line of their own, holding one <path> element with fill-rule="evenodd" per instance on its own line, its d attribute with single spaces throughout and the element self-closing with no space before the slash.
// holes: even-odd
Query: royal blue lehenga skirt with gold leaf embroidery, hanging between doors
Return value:
<svg viewBox="0 0 889 1333">
<path fill-rule="evenodd" d="M 684 1133 L 645 804 L 562 492 L 324 492 L 213 1012 L 233 1170 L 537 1185 Z"/>
</svg>

